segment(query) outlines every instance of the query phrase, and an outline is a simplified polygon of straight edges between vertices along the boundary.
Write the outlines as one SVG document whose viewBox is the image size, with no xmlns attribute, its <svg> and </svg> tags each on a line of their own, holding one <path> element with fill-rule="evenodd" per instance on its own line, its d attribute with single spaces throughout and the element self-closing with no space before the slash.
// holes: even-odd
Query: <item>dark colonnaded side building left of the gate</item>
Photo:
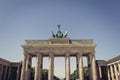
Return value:
<svg viewBox="0 0 120 80">
<path fill-rule="evenodd" d="M 21 62 L 10 62 L 8 60 L 0 58 L 0 80 L 13 79 L 19 80 L 20 77 Z M 17 74 L 15 73 L 17 72 Z"/>
</svg>

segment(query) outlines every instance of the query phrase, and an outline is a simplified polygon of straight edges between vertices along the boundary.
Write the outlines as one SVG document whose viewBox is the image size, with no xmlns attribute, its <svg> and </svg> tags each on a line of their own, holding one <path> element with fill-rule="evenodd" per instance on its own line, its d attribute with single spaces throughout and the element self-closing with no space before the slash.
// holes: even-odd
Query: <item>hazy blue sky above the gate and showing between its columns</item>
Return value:
<svg viewBox="0 0 120 80">
<path fill-rule="evenodd" d="M 0 57 L 21 61 L 21 45 L 25 40 L 48 39 L 51 31 L 57 30 L 57 24 L 61 24 L 63 31 L 68 31 L 71 39 L 94 39 L 96 59 L 118 56 L 119 4 L 119 0 L 1 0 Z M 63 76 L 60 70 L 64 72 L 61 63 L 64 58 L 56 59 L 55 74 L 58 76 Z"/>
</svg>

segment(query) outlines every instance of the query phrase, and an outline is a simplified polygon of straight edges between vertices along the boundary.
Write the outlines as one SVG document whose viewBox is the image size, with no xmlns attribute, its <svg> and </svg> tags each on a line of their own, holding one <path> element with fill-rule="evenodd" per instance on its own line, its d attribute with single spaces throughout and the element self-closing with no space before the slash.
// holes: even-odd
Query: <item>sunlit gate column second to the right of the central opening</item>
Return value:
<svg viewBox="0 0 120 80">
<path fill-rule="evenodd" d="M 84 80 L 82 53 L 77 54 L 77 59 L 78 59 L 78 73 L 79 73 L 78 76 L 79 76 L 79 80 Z"/>
</svg>

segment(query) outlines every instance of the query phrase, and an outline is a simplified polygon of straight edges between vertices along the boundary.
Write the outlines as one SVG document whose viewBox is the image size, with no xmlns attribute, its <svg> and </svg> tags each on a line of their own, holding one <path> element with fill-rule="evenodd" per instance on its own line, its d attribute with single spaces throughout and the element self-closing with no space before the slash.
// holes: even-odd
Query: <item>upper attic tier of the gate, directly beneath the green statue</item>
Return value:
<svg viewBox="0 0 120 80">
<path fill-rule="evenodd" d="M 49 44 L 93 44 L 92 39 L 71 40 L 69 38 L 50 38 L 48 40 L 26 40 L 25 45 L 49 45 Z"/>
</svg>

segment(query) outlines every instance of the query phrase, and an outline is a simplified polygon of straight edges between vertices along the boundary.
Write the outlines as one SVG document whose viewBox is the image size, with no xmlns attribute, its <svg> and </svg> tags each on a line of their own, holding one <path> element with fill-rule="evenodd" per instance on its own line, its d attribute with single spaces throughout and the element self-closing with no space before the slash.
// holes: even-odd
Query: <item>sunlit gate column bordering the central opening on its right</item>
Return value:
<svg viewBox="0 0 120 80">
<path fill-rule="evenodd" d="M 65 54 L 65 75 L 66 80 L 70 80 L 70 53 Z"/>
</svg>

